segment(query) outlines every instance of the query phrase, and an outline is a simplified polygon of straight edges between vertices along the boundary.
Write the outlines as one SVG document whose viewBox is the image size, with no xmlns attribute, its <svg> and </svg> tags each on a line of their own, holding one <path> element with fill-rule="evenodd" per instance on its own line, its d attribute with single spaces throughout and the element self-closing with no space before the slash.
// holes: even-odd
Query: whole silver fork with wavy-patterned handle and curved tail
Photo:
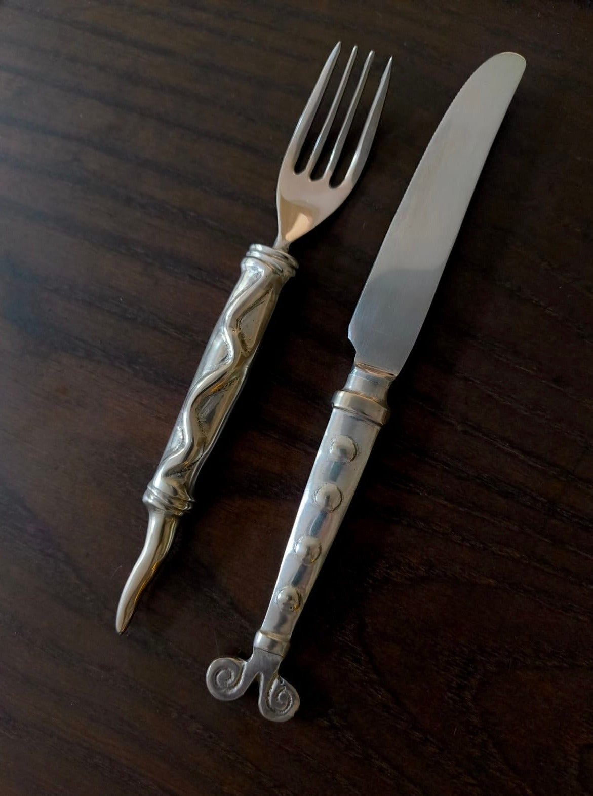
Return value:
<svg viewBox="0 0 593 796">
<path fill-rule="evenodd" d="M 169 552 L 181 516 L 193 505 L 197 475 L 244 385 L 279 292 L 295 274 L 297 262 L 288 254 L 288 247 L 334 213 L 353 189 L 365 165 L 387 94 L 391 58 L 381 77 L 345 178 L 340 185 L 330 185 L 369 76 L 373 51 L 365 60 L 326 170 L 321 178 L 311 179 L 353 68 L 357 54 L 357 48 L 353 47 L 306 167 L 298 174 L 295 171 L 339 53 L 340 42 L 322 68 L 280 166 L 276 189 L 278 236 L 274 247 L 253 244 L 241 261 L 240 278 L 206 345 L 161 462 L 142 498 L 148 509 L 146 540 L 119 599 L 115 619 L 119 633 L 126 629 L 142 591 Z"/>
</svg>

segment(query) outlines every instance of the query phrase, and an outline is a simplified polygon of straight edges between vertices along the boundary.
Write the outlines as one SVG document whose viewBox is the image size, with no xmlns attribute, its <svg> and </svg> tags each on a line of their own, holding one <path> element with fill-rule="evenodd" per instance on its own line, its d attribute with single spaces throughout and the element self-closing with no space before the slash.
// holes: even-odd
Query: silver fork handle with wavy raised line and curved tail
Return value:
<svg viewBox="0 0 593 796">
<path fill-rule="evenodd" d="M 252 245 L 241 261 L 240 278 L 142 498 L 149 514 L 146 542 L 119 601 L 116 626 L 120 633 L 169 551 L 180 517 L 194 502 L 197 475 L 243 388 L 279 293 L 296 268 L 294 257 L 261 244 Z"/>
</svg>

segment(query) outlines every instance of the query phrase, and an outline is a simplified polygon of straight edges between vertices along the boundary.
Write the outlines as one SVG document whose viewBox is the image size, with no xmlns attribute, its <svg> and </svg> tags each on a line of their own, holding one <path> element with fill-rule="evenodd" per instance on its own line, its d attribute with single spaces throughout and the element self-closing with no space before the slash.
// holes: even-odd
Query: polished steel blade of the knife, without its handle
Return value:
<svg viewBox="0 0 593 796">
<path fill-rule="evenodd" d="M 357 362 L 393 376 L 400 372 L 524 70 L 517 53 L 486 60 L 443 116 L 354 310 L 348 336 Z"/>
</svg>

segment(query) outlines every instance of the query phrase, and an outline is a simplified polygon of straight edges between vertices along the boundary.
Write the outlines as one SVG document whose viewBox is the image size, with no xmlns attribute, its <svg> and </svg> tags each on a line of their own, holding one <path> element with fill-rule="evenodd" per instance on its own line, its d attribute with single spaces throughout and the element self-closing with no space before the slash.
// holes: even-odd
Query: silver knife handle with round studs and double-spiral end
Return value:
<svg viewBox="0 0 593 796">
<path fill-rule="evenodd" d="M 206 682 L 221 700 L 236 699 L 259 679 L 259 712 L 286 721 L 298 708 L 295 688 L 279 677 L 292 631 L 337 529 L 348 509 L 380 427 L 387 421 L 393 376 L 354 365 L 345 388 L 334 394 L 333 411 L 284 552 L 263 625 L 248 661 L 218 658 Z"/>
</svg>

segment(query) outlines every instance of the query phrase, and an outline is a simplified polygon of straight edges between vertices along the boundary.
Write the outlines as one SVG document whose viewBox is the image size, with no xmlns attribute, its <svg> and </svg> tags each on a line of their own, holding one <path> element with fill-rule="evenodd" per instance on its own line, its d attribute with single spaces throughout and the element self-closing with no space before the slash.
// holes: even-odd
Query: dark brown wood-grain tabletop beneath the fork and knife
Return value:
<svg viewBox="0 0 593 796">
<path fill-rule="evenodd" d="M 593 794 L 589 3 L 0 2 L 0 794 Z M 294 247 L 200 505 L 127 634 L 141 497 L 338 38 L 392 54 L 351 200 Z M 524 80 L 283 673 L 246 655 L 424 147 Z"/>
</svg>

